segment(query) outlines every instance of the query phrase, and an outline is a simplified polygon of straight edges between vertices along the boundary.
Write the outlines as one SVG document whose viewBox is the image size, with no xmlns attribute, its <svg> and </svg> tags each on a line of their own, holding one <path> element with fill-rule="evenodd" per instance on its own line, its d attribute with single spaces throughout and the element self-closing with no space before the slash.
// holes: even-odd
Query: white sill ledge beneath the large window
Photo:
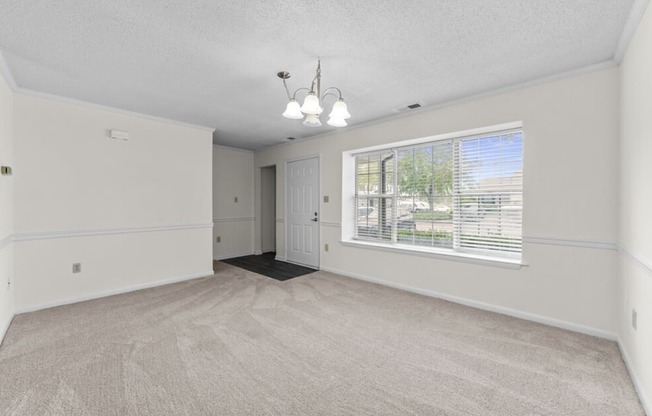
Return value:
<svg viewBox="0 0 652 416">
<path fill-rule="evenodd" d="M 521 267 L 526 267 L 527 264 L 522 260 L 501 259 L 496 257 L 482 256 L 478 254 L 449 252 L 447 250 L 437 250 L 420 248 L 415 246 L 394 244 L 380 244 L 373 241 L 364 240 L 341 240 L 340 243 L 347 247 L 364 248 L 368 250 L 379 250 L 388 253 L 408 254 L 414 256 L 430 257 L 441 260 L 452 260 L 462 263 L 481 264 L 484 266 L 500 267 L 503 269 L 518 270 Z"/>
</svg>

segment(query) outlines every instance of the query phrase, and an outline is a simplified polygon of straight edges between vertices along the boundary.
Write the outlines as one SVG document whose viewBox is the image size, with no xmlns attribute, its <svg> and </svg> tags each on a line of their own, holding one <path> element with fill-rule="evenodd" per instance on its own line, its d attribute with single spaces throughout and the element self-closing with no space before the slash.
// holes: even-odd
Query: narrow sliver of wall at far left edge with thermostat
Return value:
<svg viewBox="0 0 652 416">
<path fill-rule="evenodd" d="M 0 73 L 0 165 L 13 162 L 13 91 Z M 0 176 L 0 344 L 14 316 L 13 178 Z"/>
</svg>

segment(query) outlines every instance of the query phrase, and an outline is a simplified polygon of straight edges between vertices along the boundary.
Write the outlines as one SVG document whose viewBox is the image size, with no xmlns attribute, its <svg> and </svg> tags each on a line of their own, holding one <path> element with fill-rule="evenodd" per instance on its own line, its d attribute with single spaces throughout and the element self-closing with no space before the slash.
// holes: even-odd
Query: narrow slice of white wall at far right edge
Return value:
<svg viewBox="0 0 652 416">
<path fill-rule="evenodd" d="M 652 8 L 621 65 L 620 299 L 623 350 L 652 414 Z M 632 310 L 638 314 L 632 327 Z"/>
</svg>

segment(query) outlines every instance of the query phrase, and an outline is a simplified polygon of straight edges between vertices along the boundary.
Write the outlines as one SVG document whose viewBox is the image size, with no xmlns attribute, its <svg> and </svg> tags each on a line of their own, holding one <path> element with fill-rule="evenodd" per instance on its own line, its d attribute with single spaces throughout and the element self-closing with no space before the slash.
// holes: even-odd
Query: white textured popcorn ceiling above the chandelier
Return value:
<svg viewBox="0 0 652 416">
<path fill-rule="evenodd" d="M 20 88 L 214 127 L 262 148 L 314 129 L 291 89 L 342 89 L 350 125 L 610 61 L 634 0 L 0 0 Z M 327 104 L 327 107 L 330 107 Z M 327 117 L 322 116 L 325 125 Z"/>
</svg>

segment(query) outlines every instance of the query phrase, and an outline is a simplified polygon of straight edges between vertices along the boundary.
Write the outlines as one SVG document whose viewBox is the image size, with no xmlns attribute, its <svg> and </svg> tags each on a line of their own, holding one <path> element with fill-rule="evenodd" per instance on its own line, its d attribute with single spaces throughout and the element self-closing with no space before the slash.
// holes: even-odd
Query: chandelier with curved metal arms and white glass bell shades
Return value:
<svg viewBox="0 0 652 416">
<path fill-rule="evenodd" d="M 312 79 L 312 84 L 310 88 L 299 88 L 294 91 L 294 94 L 290 95 L 290 90 L 288 89 L 286 80 L 290 78 L 290 73 L 287 71 L 281 71 L 277 73 L 279 78 L 283 80 L 283 86 L 285 87 L 285 92 L 288 95 L 288 105 L 285 108 L 283 117 L 299 120 L 304 117 L 303 120 L 304 126 L 309 127 L 319 127 L 321 126 L 321 121 L 319 121 L 319 115 L 324 111 L 322 103 L 324 98 L 332 95 L 337 98 L 335 104 L 333 104 L 333 109 L 328 115 L 328 121 L 326 122 L 329 126 L 334 127 L 344 127 L 346 126 L 346 120 L 351 118 L 349 110 L 346 108 L 346 103 L 342 98 L 342 91 L 339 88 L 328 87 L 324 90 L 324 93 L 321 94 L 321 60 L 317 61 L 317 71 L 315 72 L 315 77 Z M 306 90 L 308 95 L 303 101 L 303 105 L 299 105 L 297 101 L 297 93 L 299 91 Z M 337 94 L 335 94 L 337 91 Z"/>
</svg>

